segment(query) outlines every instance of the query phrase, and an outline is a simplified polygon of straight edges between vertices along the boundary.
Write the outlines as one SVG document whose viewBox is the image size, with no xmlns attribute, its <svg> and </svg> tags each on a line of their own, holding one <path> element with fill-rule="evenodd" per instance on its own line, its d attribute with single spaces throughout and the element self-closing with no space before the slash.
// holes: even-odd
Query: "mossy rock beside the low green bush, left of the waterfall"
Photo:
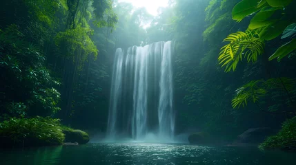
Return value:
<svg viewBox="0 0 296 165">
<path fill-rule="evenodd" d="M 86 144 L 90 141 L 88 133 L 81 131 L 79 129 L 63 128 L 63 133 L 65 134 L 64 142 L 78 142 L 78 144 Z"/>
</svg>

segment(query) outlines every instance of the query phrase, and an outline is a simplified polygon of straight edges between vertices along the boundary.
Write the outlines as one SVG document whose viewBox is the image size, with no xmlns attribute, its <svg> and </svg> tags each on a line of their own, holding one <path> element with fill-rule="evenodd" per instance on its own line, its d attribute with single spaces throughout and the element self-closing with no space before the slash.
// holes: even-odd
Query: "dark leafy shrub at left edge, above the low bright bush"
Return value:
<svg viewBox="0 0 296 165">
<path fill-rule="evenodd" d="M 17 25 L 0 30 L 1 113 L 53 115 L 60 110 L 60 83 L 44 66 L 36 45 L 23 41 Z"/>
</svg>

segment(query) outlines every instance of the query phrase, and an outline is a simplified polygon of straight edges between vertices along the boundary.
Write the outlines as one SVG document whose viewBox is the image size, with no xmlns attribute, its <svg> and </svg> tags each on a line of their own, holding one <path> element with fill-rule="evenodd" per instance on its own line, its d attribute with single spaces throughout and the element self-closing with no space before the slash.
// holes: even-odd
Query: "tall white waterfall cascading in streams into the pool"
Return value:
<svg viewBox="0 0 296 165">
<path fill-rule="evenodd" d="M 173 140 L 171 41 L 129 47 L 115 53 L 108 138 Z"/>
</svg>

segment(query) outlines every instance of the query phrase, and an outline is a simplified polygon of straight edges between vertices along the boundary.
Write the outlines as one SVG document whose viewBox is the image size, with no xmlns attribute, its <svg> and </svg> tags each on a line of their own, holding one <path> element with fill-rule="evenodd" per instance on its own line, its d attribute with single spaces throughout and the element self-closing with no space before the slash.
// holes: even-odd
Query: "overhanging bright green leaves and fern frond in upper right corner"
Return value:
<svg viewBox="0 0 296 165">
<path fill-rule="evenodd" d="M 294 37 L 295 35 L 295 18 L 293 18 L 294 13 L 291 12 L 294 9 L 291 7 L 293 4 L 293 0 L 242 0 L 237 3 L 233 8 L 233 19 L 237 21 L 241 21 L 245 17 L 250 14 L 255 14 L 253 19 L 251 19 L 250 24 L 248 25 L 248 30 L 244 32 L 237 32 L 234 34 L 230 34 L 228 38 L 224 41 L 231 42 L 237 41 L 237 44 L 234 46 L 235 50 L 239 50 L 239 59 L 241 61 L 242 54 L 241 50 L 246 50 L 246 40 L 241 39 L 239 36 L 244 36 L 242 34 L 248 34 L 250 32 L 255 32 L 256 40 L 254 45 L 250 45 L 250 52 L 245 54 L 244 57 L 247 58 L 248 62 L 257 61 L 257 56 L 259 54 L 263 54 L 264 41 L 270 41 L 280 34 L 283 34 L 282 39 L 286 39 L 287 37 Z M 292 24 L 291 24 L 292 23 Z M 239 35 L 240 34 L 240 35 Z M 236 40 L 230 37 L 235 37 Z M 250 35 L 248 35 L 250 36 Z M 251 35 L 253 36 L 253 35 Z M 230 39 L 229 39 L 230 38 Z M 251 38 L 252 39 L 252 38 Z M 250 40 L 248 40 L 250 41 Z M 247 41 L 247 42 L 248 42 Z M 252 41 L 250 41 L 252 42 Z M 233 52 L 233 47 L 229 44 L 222 47 L 222 51 L 219 56 L 219 61 L 222 67 L 226 66 L 225 71 L 229 72 L 231 69 L 234 71 L 239 60 L 235 54 L 237 52 Z M 292 39 L 290 42 L 286 43 L 282 47 L 270 56 L 269 61 L 277 58 L 278 61 L 287 56 L 293 50 L 296 49 L 296 39 Z M 255 51 L 257 50 L 257 51 Z"/>
</svg>

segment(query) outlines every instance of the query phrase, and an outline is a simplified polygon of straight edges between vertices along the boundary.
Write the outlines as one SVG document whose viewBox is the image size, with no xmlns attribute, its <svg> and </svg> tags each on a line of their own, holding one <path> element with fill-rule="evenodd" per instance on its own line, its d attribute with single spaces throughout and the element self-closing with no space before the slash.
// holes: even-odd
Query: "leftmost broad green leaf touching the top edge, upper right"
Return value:
<svg viewBox="0 0 296 165">
<path fill-rule="evenodd" d="M 261 8 L 257 8 L 259 0 L 243 0 L 233 8 L 233 19 L 241 21 L 253 12 L 257 12 Z"/>
</svg>

